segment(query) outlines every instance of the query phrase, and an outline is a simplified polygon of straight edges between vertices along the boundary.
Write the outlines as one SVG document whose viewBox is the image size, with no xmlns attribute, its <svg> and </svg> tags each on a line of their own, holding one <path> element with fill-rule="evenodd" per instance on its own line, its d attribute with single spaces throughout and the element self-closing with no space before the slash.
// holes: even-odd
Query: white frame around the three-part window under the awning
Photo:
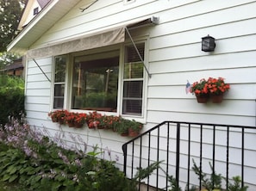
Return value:
<svg viewBox="0 0 256 191">
<path fill-rule="evenodd" d="M 134 39 L 135 44 L 144 43 L 144 64 L 147 67 L 147 38 L 140 37 L 140 39 Z M 65 93 L 64 93 L 64 106 L 63 109 L 68 109 L 72 112 L 79 113 L 88 113 L 91 110 L 82 110 L 82 109 L 72 109 L 72 75 L 73 75 L 73 65 L 74 59 L 78 56 L 85 56 L 90 54 L 97 54 L 102 52 L 116 51 L 119 50 L 119 75 L 118 75 L 118 91 L 117 91 L 117 108 L 116 112 L 104 112 L 97 111 L 101 114 L 113 114 L 113 115 L 122 115 L 127 119 L 136 119 L 140 122 L 145 122 L 146 114 L 147 114 L 147 83 L 148 83 L 148 75 L 143 68 L 143 87 L 142 87 L 142 106 L 141 106 L 141 114 L 140 115 L 131 115 L 131 114 L 122 114 L 122 96 L 123 96 L 123 70 L 124 70 L 124 58 L 125 58 L 125 47 L 131 46 L 132 43 L 130 40 L 126 40 L 124 43 L 112 45 L 112 46 L 104 46 L 97 49 L 86 50 L 82 52 L 72 52 L 66 55 L 56 55 L 53 57 L 53 88 L 52 88 L 52 107 L 53 108 L 53 97 L 54 97 L 54 76 L 55 76 L 55 58 L 59 56 L 66 56 L 66 82 L 65 82 Z M 145 65 L 143 67 L 145 67 Z"/>
</svg>

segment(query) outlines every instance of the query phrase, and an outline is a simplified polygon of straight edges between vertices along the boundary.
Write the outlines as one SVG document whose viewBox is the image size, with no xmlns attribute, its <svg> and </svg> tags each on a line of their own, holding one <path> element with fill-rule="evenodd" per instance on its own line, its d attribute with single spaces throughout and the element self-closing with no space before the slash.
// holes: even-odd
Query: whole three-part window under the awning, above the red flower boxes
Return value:
<svg viewBox="0 0 256 191">
<path fill-rule="evenodd" d="M 71 54 L 72 70 L 67 72 L 66 57 L 55 58 L 53 108 L 112 112 L 142 116 L 144 96 L 145 43 L 99 48 Z"/>
</svg>

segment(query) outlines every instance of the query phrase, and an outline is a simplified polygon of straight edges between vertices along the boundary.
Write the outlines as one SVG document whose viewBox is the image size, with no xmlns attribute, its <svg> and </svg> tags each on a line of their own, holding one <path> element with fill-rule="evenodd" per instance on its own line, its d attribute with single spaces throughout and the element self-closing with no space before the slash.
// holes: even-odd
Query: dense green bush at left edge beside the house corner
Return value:
<svg viewBox="0 0 256 191">
<path fill-rule="evenodd" d="M 0 76 L 0 124 L 7 123 L 9 116 L 22 118 L 24 98 L 22 78 Z"/>
</svg>

